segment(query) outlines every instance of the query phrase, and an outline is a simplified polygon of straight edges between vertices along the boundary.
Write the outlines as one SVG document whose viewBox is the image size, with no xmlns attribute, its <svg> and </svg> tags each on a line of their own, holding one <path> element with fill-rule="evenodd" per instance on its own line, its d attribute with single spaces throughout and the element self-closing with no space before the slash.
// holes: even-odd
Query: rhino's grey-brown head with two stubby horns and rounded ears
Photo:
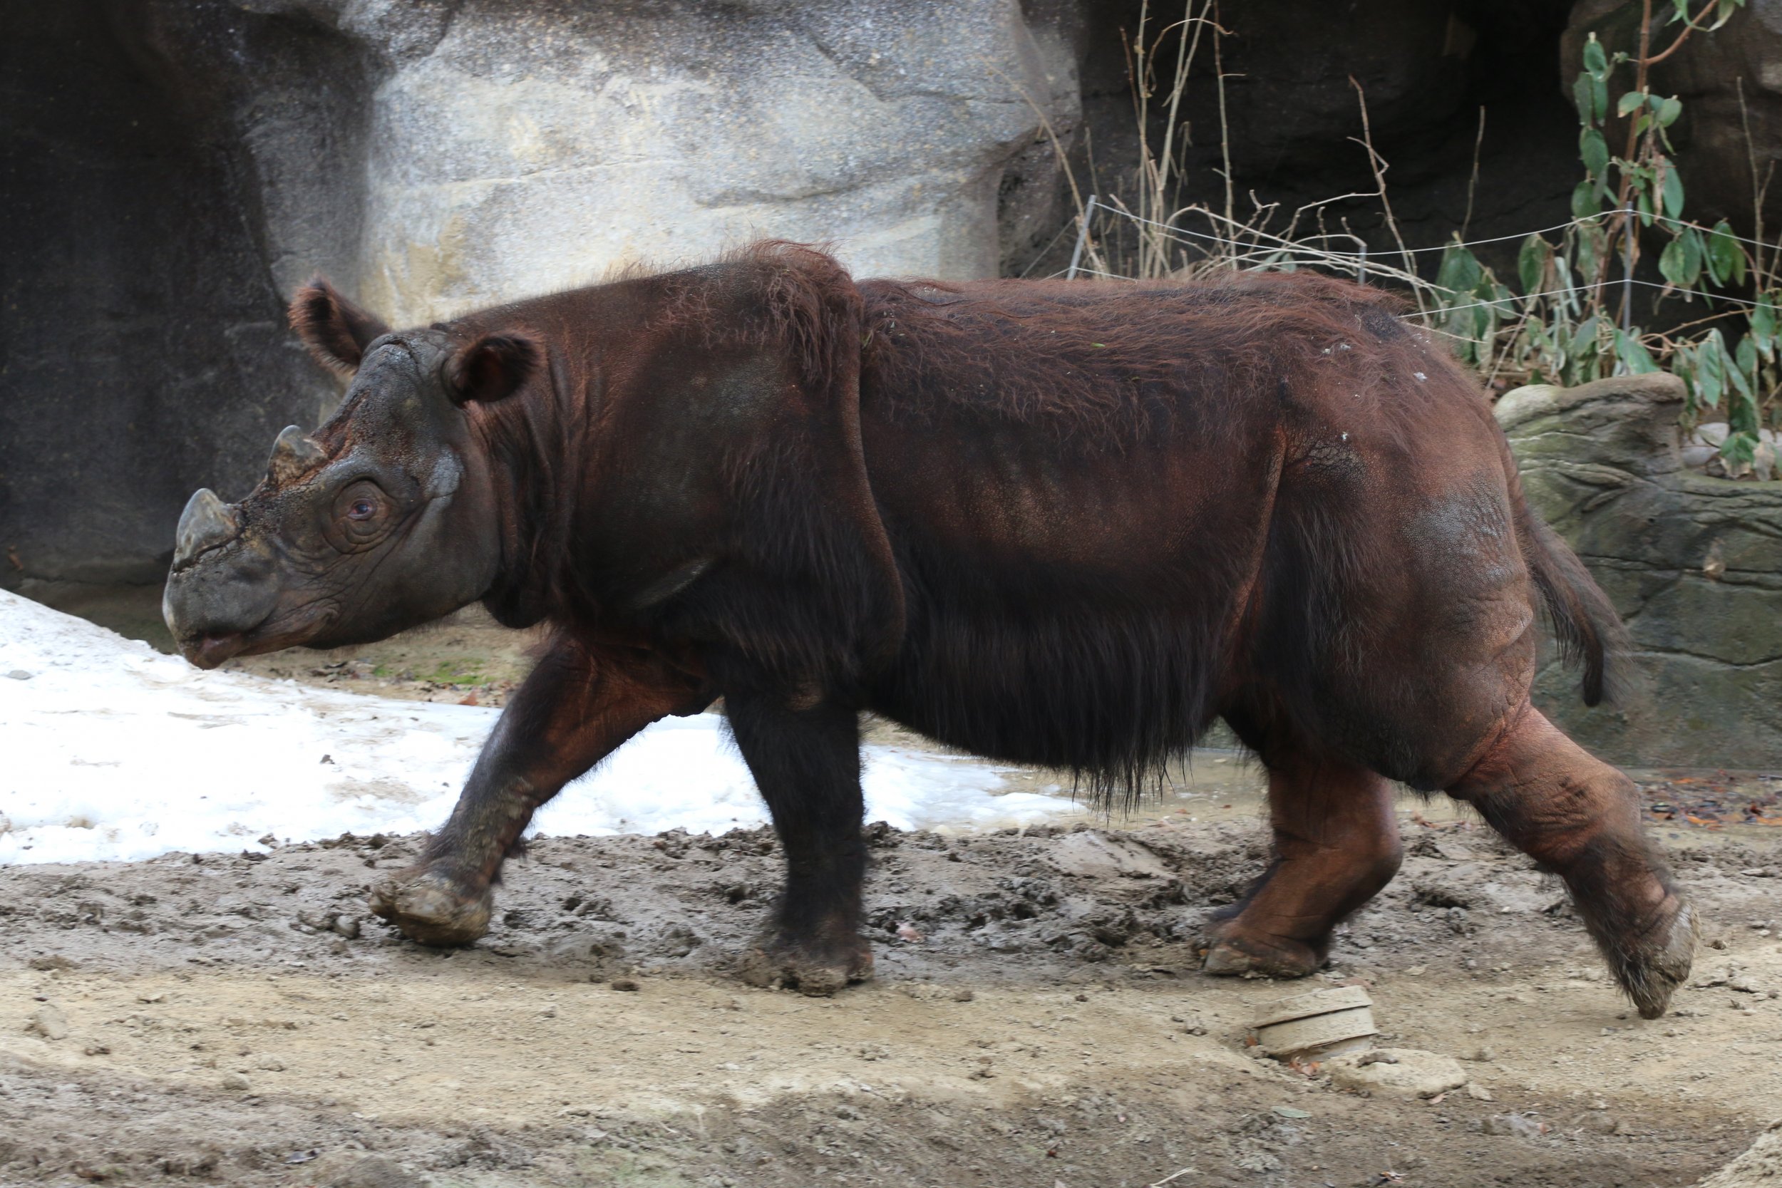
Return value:
<svg viewBox="0 0 1782 1188">
<path fill-rule="evenodd" d="M 290 321 L 351 387 L 314 436 L 278 435 L 239 504 L 210 490 L 185 504 L 162 611 L 201 668 L 381 639 L 483 597 L 501 559 L 465 406 L 522 388 L 540 346 L 524 331 L 390 333 L 321 278 Z"/>
</svg>

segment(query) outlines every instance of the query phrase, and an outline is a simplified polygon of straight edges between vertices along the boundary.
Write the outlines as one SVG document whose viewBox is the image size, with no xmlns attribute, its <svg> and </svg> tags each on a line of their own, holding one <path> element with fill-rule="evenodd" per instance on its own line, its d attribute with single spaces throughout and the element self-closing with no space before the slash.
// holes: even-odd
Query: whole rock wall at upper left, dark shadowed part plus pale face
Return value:
<svg viewBox="0 0 1782 1188">
<path fill-rule="evenodd" d="M 1066 217 L 1066 12 L 0 0 L 0 586 L 164 575 L 337 399 L 283 326 L 317 269 L 396 322 L 764 235 L 996 274 Z"/>
</svg>

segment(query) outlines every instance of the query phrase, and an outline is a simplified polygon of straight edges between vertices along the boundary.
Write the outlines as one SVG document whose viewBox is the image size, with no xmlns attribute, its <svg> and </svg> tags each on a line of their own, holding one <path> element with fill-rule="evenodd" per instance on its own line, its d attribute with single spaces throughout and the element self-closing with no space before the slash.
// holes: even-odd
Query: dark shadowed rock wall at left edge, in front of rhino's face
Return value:
<svg viewBox="0 0 1782 1188">
<path fill-rule="evenodd" d="M 242 490 L 333 390 L 283 330 L 251 162 L 223 151 L 230 62 L 264 32 L 223 16 L 0 5 L 0 584 L 159 581 L 192 488 Z M 257 135 L 299 85 L 331 110 L 328 45 L 278 45 Z"/>
</svg>

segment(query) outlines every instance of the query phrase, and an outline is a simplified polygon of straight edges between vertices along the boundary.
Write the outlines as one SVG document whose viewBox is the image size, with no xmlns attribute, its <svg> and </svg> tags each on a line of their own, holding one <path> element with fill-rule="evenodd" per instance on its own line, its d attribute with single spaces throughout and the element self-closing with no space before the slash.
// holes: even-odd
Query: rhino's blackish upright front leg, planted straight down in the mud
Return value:
<svg viewBox="0 0 1782 1188">
<path fill-rule="evenodd" d="M 725 707 L 786 851 L 786 887 L 740 976 L 818 996 L 871 978 L 873 951 L 859 932 L 866 876 L 859 716 L 827 704 L 789 709 L 770 696 L 731 695 Z"/>
</svg>

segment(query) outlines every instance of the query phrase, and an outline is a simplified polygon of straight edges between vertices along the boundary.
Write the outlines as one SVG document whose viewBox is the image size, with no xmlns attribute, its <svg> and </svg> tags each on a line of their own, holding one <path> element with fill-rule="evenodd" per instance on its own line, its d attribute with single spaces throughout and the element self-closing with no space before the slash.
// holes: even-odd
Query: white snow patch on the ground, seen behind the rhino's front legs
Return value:
<svg viewBox="0 0 1782 1188">
<path fill-rule="evenodd" d="M 0 864 L 264 850 L 446 821 L 499 711 L 201 671 L 0 591 Z M 1000 769 L 864 748 L 866 819 L 1021 825 L 1073 810 Z M 693 834 L 768 821 L 723 718 L 668 718 L 570 784 L 542 834 Z"/>
</svg>

